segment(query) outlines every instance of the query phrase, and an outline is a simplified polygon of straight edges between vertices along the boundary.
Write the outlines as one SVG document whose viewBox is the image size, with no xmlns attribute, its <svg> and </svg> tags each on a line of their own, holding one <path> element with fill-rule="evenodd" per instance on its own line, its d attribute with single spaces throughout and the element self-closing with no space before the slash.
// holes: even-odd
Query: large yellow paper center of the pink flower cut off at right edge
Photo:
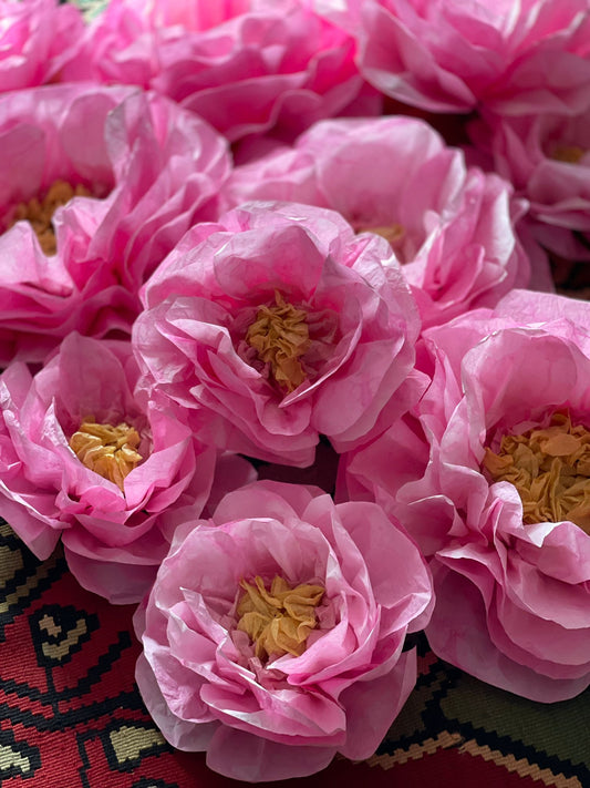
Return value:
<svg viewBox="0 0 590 788">
<path fill-rule="evenodd" d="M 494 481 L 516 487 L 525 523 L 570 520 L 590 533 L 590 432 L 573 427 L 568 413 L 553 413 L 549 427 L 505 436 L 498 454 L 486 449 L 484 467 Z"/>
</svg>

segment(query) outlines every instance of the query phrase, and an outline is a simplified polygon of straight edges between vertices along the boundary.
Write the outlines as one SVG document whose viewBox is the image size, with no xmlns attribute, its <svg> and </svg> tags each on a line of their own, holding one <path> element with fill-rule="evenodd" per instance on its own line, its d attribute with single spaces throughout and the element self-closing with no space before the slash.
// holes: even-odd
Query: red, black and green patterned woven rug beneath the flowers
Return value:
<svg viewBox="0 0 590 788">
<path fill-rule="evenodd" d="M 132 606 L 83 591 L 58 552 L 43 563 L 0 524 L 2 788 L 221 788 L 201 754 L 173 750 L 134 684 Z M 275 786 L 590 786 L 590 690 L 535 704 L 437 659 L 421 637 L 420 678 L 376 755 Z M 270 785 L 270 784 L 269 784 Z"/>
</svg>

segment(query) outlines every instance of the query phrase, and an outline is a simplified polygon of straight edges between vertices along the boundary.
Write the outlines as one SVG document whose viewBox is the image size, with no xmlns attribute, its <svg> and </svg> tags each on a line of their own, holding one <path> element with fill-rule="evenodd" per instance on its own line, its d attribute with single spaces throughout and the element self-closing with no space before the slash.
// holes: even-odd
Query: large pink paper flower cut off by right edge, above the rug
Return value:
<svg viewBox="0 0 590 788">
<path fill-rule="evenodd" d="M 589 325 L 584 301 L 515 290 L 425 331 L 420 423 L 345 458 L 349 494 L 379 501 L 431 556 L 433 651 L 540 702 L 590 684 Z M 514 475 L 494 475 L 489 452 Z"/>
</svg>

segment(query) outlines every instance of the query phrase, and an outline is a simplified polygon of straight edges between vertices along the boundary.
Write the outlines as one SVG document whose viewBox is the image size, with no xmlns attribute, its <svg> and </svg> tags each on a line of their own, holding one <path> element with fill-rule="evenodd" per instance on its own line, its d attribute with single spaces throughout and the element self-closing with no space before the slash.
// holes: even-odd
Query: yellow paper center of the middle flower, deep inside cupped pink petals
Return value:
<svg viewBox="0 0 590 788">
<path fill-rule="evenodd" d="M 275 306 L 261 306 L 256 320 L 249 326 L 246 341 L 268 364 L 275 381 L 292 391 L 307 378 L 299 358 L 309 349 L 311 340 L 307 313 L 288 304 L 280 293 L 275 293 Z"/>
</svg>

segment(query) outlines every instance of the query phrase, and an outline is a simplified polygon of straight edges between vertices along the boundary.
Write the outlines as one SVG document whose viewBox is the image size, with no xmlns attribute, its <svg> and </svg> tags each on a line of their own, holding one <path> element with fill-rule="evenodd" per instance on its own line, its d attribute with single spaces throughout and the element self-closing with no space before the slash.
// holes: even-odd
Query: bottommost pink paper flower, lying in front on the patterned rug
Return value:
<svg viewBox="0 0 590 788">
<path fill-rule="evenodd" d="M 299 621 L 299 594 L 315 595 L 309 625 L 293 627 L 299 637 L 279 641 L 281 651 L 266 620 L 259 634 L 249 626 L 248 585 L 298 592 L 275 596 L 286 630 Z M 302 777 L 337 753 L 375 751 L 416 679 L 405 635 L 431 606 L 424 560 L 379 506 L 258 482 L 177 530 L 135 615 L 137 683 L 168 741 L 207 750 L 211 769 L 248 781 Z"/>
</svg>

